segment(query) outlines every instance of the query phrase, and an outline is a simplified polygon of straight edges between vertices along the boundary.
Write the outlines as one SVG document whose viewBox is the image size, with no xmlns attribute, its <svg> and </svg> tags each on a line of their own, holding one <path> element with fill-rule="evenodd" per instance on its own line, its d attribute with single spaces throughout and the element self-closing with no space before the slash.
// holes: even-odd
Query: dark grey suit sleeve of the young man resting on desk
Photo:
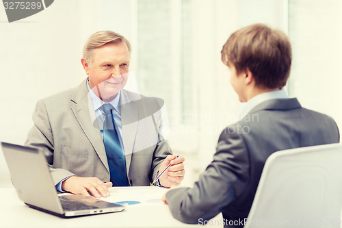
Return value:
<svg viewBox="0 0 342 228">
<path fill-rule="evenodd" d="M 213 161 L 193 188 L 176 188 L 166 194 L 174 218 L 183 223 L 198 224 L 200 218 L 209 220 L 244 192 L 249 178 L 249 157 L 243 138 L 220 135 Z"/>
</svg>

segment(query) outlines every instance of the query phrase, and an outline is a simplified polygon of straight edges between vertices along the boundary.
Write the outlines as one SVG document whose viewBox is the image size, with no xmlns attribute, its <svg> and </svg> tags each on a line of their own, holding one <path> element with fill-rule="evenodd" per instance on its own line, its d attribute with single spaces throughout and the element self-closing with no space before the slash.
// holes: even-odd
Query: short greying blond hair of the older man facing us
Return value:
<svg viewBox="0 0 342 228">
<path fill-rule="evenodd" d="M 98 47 L 107 44 L 117 44 L 120 42 L 125 42 L 129 53 L 131 53 L 131 44 L 129 41 L 124 38 L 124 36 L 114 32 L 114 31 L 97 31 L 96 33 L 92 34 L 83 47 L 83 58 L 87 60 L 89 64 L 92 62 L 92 51 Z"/>
</svg>

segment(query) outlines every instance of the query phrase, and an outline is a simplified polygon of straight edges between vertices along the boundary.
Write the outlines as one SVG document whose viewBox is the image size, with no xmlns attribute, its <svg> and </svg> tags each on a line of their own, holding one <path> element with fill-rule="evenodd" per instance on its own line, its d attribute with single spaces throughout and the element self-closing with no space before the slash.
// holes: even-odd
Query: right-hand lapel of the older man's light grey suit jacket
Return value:
<svg viewBox="0 0 342 228">
<path fill-rule="evenodd" d="M 121 90 L 120 107 L 122 142 L 124 144 L 124 154 L 126 155 L 127 173 L 131 166 L 133 147 L 139 123 L 139 108 L 138 105 L 135 105 L 134 103 L 136 99 L 138 98 L 129 96 L 129 93 L 126 90 Z"/>
</svg>

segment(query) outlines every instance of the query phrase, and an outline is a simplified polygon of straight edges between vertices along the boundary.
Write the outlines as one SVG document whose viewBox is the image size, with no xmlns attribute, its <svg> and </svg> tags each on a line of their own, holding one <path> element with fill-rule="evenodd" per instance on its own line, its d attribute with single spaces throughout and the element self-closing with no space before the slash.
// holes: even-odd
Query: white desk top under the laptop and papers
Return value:
<svg viewBox="0 0 342 228">
<path fill-rule="evenodd" d="M 129 205 L 123 212 L 60 218 L 28 207 L 18 199 L 14 188 L 0 188 L 0 227 L 202 227 L 187 225 L 173 218 L 168 205 L 160 201 L 165 191 L 158 187 L 112 188 L 108 201 L 141 203 Z"/>
</svg>

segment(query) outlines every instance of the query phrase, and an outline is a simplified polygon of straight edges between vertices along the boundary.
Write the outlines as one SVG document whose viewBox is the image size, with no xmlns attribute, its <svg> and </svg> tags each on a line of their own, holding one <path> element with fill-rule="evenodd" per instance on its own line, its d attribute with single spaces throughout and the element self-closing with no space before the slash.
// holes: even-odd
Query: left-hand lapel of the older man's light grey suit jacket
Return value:
<svg viewBox="0 0 342 228">
<path fill-rule="evenodd" d="M 105 146 L 103 145 L 101 131 L 98 128 L 97 121 L 94 121 L 94 125 L 92 123 L 91 116 L 94 117 L 95 113 L 94 108 L 91 106 L 92 101 L 88 93 L 86 80 L 82 82 L 79 88 L 77 88 L 77 92 L 75 92 L 72 101 L 75 103 L 75 105 L 71 107 L 71 110 L 73 110 L 79 125 L 81 125 L 81 128 L 84 131 L 84 134 L 86 134 L 87 138 L 92 143 L 92 146 L 94 147 L 98 157 L 100 157 L 101 162 L 109 172 L 107 155 L 105 153 Z"/>
</svg>

